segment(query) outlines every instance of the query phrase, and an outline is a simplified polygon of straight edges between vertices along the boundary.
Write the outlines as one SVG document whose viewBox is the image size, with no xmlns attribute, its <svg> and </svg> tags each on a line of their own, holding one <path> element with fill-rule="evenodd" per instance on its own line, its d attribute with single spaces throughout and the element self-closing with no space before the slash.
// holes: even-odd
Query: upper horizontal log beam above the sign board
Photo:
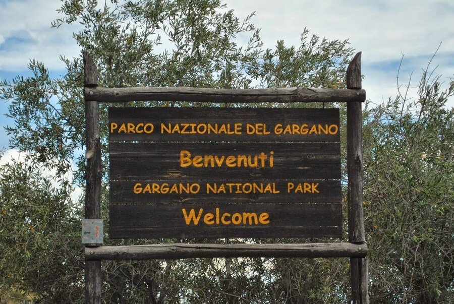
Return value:
<svg viewBox="0 0 454 304">
<path fill-rule="evenodd" d="M 85 100 L 99 102 L 193 101 L 193 102 L 351 102 L 366 100 L 365 90 L 273 88 L 206 89 L 188 87 L 85 88 Z"/>
</svg>

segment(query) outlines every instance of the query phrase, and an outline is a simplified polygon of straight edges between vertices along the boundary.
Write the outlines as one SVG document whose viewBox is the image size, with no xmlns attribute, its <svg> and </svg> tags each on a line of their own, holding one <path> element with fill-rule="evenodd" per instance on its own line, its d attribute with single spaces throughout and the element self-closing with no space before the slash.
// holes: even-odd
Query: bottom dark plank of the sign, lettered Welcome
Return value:
<svg viewBox="0 0 454 304">
<path fill-rule="evenodd" d="M 216 210 L 218 208 L 218 211 Z M 200 219 L 195 225 L 185 221 L 194 210 Z M 204 216 L 211 213 L 219 220 L 209 224 Z M 193 238 L 193 237 L 297 237 L 300 233 L 339 237 L 342 235 L 341 204 L 159 204 L 110 205 L 110 238 Z M 228 213 L 225 224 L 221 217 Z M 257 218 L 268 213 L 269 223 L 251 220 L 243 213 L 255 213 Z M 234 216 L 234 214 L 239 214 Z M 233 218 L 247 218 L 234 224 Z M 331 228 L 331 229 L 330 229 Z"/>
</svg>

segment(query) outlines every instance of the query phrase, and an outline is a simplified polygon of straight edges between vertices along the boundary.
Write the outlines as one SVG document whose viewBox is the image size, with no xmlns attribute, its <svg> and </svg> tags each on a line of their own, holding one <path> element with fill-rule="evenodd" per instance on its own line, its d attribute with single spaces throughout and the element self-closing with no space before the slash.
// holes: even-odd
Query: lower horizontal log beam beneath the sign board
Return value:
<svg viewBox="0 0 454 304">
<path fill-rule="evenodd" d="M 86 260 L 192 258 L 363 258 L 367 245 L 329 244 L 157 244 L 85 248 Z"/>
</svg>

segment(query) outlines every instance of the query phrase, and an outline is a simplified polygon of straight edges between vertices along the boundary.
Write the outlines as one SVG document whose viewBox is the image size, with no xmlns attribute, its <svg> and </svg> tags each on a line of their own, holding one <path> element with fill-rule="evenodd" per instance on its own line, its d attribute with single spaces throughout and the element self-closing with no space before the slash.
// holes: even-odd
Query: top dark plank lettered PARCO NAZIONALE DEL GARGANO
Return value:
<svg viewBox="0 0 454 304">
<path fill-rule="evenodd" d="M 127 126 L 128 123 L 133 126 L 152 124 L 153 129 L 148 129 L 148 131 L 153 131 L 146 133 L 140 130 L 141 133 L 137 133 L 135 130 L 131 130 L 126 133 L 121 130 L 121 126 Z M 118 128 L 112 128 L 112 124 L 116 124 Z M 240 134 L 225 134 L 220 131 L 217 134 L 212 131 L 208 133 L 208 124 L 213 127 L 217 124 L 219 130 L 224 125 L 230 133 L 233 133 L 234 126 L 238 125 L 237 133 Z M 290 125 L 291 133 L 285 132 L 288 125 Z M 299 130 L 294 131 L 294 125 L 299 126 Z M 109 108 L 109 141 L 339 141 L 339 131 L 335 134 L 315 134 L 310 132 L 314 125 L 317 129 L 318 125 L 324 129 L 332 125 L 338 127 L 339 110 L 335 108 Z M 165 129 L 174 130 L 175 127 L 178 129 L 171 134 Z M 204 131 L 206 132 L 201 134 Z M 334 129 L 330 131 L 334 131 Z M 252 134 L 248 134 L 248 132 Z M 298 132 L 306 134 L 298 134 Z"/>
</svg>

